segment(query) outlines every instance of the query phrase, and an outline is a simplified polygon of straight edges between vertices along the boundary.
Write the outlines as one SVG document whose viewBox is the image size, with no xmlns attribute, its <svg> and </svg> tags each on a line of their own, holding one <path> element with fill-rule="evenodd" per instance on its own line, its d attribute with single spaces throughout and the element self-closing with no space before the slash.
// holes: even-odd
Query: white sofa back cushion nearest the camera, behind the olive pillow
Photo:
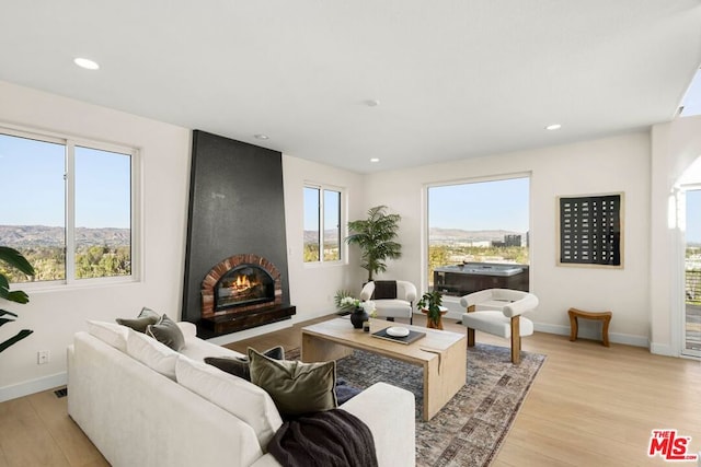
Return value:
<svg viewBox="0 0 701 467">
<path fill-rule="evenodd" d="M 283 424 L 271 396 L 245 380 L 183 355 L 175 374 L 177 383 L 251 425 L 263 451 Z"/>
</svg>

